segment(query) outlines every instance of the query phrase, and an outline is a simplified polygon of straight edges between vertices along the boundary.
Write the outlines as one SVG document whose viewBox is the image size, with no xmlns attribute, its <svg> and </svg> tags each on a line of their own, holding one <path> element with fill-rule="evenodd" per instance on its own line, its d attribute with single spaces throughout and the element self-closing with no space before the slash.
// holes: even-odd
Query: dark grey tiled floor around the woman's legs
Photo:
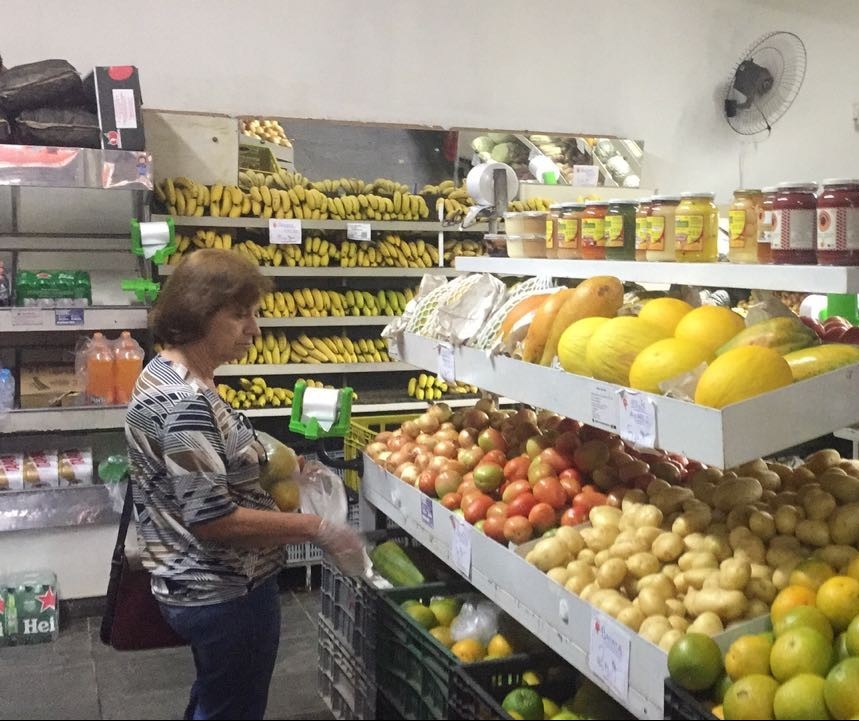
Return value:
<svg viewBox="0 0 859 721">
<path fill-rule="evenodd" d="M 280 653 L 267 719 L 330 719 L 316 691 L 318 591 L 283 591 Z M 194 664 L 187 648 L 118 652 L 100 618 L 75 619 L 55 643 L 0 649 L 2 719 L 181 719 Z"/>
</svg>

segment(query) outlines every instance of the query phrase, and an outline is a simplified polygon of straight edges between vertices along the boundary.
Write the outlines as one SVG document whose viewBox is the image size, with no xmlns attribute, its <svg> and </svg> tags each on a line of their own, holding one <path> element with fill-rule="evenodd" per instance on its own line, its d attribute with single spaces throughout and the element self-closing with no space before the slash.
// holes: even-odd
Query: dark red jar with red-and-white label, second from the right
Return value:
<svg viewBox="0 0 859 721">
<path fill-rule="evenodd" d="M 773 263 L 817 262 L 817 185 L 779 183 L 773 198 Z"/>
</svg>

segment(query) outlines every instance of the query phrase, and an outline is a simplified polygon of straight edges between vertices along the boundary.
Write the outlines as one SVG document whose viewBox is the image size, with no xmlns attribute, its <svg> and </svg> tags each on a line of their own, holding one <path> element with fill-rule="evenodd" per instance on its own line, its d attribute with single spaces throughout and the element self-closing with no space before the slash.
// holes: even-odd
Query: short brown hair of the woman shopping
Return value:
<svg viewBox="0 0 859 721">
<path fill-rule="evenodd" d="M 270 289 L 271 281 L 237 253 L 198 250 L 168 278 L 149 314 L 149 327 L 161 343 L 193 343 L 206 335 L 219 310 L 249 308 Z"/>
</svg>

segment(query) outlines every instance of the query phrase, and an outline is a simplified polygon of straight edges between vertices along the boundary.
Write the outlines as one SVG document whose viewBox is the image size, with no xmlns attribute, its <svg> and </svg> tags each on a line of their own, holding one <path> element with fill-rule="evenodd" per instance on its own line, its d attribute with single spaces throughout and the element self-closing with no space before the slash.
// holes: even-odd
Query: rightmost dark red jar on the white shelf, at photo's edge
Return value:
<svg viewBox="0 0 859 721">
<path fill-rule="evenodd" d="M 817 197 L 817 262 L 859 265 L 859 180 L 823 181 Z"/>
</svg>

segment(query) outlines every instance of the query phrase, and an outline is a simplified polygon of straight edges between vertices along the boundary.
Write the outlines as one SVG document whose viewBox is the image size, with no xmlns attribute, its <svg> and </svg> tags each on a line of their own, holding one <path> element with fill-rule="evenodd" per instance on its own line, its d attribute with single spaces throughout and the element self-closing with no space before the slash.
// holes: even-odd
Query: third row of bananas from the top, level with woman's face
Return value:
<svg viewBox="0 0 859 721">
<path fill-rule="evenodd" d="M 411 288 L 404 290 L 325 290 L 296 288 L 266 293 L 261 307 L 264 318 L 324 318 L 327 316 L 402 315 L 406 304 L 415 297 Z"/>
</svg>

